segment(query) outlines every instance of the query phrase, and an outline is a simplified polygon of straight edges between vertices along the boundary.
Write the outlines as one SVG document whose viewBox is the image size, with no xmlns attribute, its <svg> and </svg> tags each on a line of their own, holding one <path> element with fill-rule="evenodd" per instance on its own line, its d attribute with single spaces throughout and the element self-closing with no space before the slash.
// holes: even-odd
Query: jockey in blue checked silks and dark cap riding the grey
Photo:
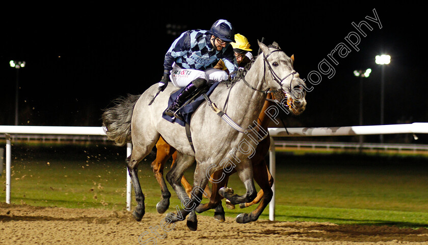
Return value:
<svg viewBox="0 0 428 245">
<path fill-rule="evenodd" d="M 164 75 L 159 82 L 163 91 L 171 81 L 176 87 L 184 87 L 176 100 L 165 111 L 175 112 L 185 101 L 193 97 L 208 83 L 227 80 L 225 71 L 212 68 L 222 59 L 229 72 L 238 69 L 230 42 L 234 42 L 234 30 L 227 20 L 217 20 L 208 30 L 189 30 L 181 34 L 165 55 Z"/>
</svg>

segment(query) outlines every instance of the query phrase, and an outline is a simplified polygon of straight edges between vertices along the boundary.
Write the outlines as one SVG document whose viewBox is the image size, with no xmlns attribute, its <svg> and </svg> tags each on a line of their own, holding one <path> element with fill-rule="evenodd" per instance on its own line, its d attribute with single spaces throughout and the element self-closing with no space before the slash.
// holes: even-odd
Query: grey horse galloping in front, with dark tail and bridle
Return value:
<svg viewBox="0 0 428 245">
<path fill-rule="evenodd" d="M 236 170 L 244 183 L 246 194 L 233 194 L 230 189 L 222 188 L 219 194 L 232 204 L 252 201 L 257 192 L 253 182 L 251 157 L 258 144 L 260 132 L 257 131 L 257 117 L 260 114 L 266 93 L 285 91 L 295 98 L 304 98 L 302 86 L 305 86 L 299 74 L 293 69 L 292 59 L 273 43 L 266 46 L 258 42 L 261 49 L 251 68 L 238 80 L 233 89 L 219 84 L 210 95 L 212 104 L 204 102 L 193 113 L 190 130 L 193 146 L 186 137 L 184 127 L 172 124 L 162 117 L 167 108 L 169 96 L 177 90 L 167 86 L 154 102 L 149 105 L 156 94 L 157 84 L 149 87 L 141 96 L 128 96 L 116 101 L 116 105 L 104 111 L 103 126 L 108 137 L 117 145 L 132 141 L 132 154 L 127 158 L 127 168 L 135 190 L 137 206 L 133 216 L 141 221 L 145 213 L 144 194 L 138 179 L 138 164 L 151 151 L 159 137 L 165 139 L 177 152 L 177 162 L 167 174 L 167 180 L 181 200 L 181 209 L 168 213 L 170 222 L 183 220 L 188 216 L 187 225 L 191 230 L 197 229 L 195 208 L 200 204 L 203 188 L 209 176 L 218 170 Z M 229 90 L 230 89 L 230 90 Z M 297 91 L 297 92 L 296 92 Z M 297 96 L 296 96 L 297 95 Z M 227 115 L 235 125 L 241 126 L 238 131 L 226 123 L 216 113 L 212 105 L 227 103 Z M 295 103 L 299 103 L 296 100 Z M 306 103 L 306 102 L 305 102 Z M 193 190 L 191 198 L 181 186 L 183 172 L 196 160 Z M 247 214 L 237 217 L 239 223 L 245 223 Z"/>
</svg>

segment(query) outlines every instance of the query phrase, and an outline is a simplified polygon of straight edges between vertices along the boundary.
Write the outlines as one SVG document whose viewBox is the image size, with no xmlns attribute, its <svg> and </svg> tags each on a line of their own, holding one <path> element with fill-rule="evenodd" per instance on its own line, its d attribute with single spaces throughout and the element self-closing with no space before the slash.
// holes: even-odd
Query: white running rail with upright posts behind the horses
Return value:
<svg viewBox="0 0 428 245">
<path fill-rule="evenodd" d="M 377 135 L 377 134 L 427 134 L 428 123 L 327 127 L 327 128 L 269 128 L 271 136 L 270 169 L 275 179 L 275 142 L 272 137 L 296 136 L 349 136 L 349 135 Z M 62 126 L 0 126 L 0 134 L 6 134 L 6 203 L 10 203 L 10 173 L 11 173 L 11 141 L 10 134 L 61 134 L 61 135 L 103 135 L 102 127 L 62 127 Z M 132 145 L 127 144 L 126 156 L 131 153 Z M 269 207 L 269 219 L 275 220 L 275 184 Z M 131 180 L 126 174 L 126 209 L 131 210 Z"/>
</svg>

